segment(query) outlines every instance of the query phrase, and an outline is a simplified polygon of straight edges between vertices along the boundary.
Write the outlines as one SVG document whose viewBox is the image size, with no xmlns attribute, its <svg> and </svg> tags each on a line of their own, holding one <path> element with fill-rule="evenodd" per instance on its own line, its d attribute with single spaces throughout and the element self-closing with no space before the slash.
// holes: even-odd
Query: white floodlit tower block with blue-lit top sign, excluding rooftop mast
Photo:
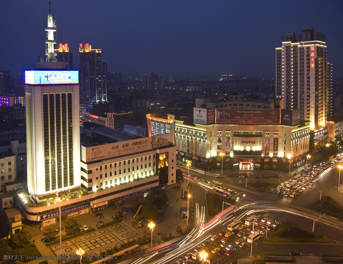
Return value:
<svg viewBox="0 0 343 264">
<path fill-rule="evenodd" d="M 78 71 L 25 71 L 27 185 L 44 196 L 81 185 Z"/>
</svg>

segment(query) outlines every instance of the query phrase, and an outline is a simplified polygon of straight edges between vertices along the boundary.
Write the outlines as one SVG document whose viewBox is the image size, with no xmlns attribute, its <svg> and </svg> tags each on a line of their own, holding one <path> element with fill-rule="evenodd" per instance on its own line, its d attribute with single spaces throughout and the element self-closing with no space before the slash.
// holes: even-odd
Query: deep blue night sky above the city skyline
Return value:
<svg viewBox="0 0 343 264">
<path fill-rule="evenodd" d="M 34 4 L 33 4 L 34 3 Z M 0 70 L 12 78 L 44 55 L 49 1 L 0 1 Z M 343 1 L 55 1 L 57 43 L 102 49 L 107 71 L 154 72 L 177 79 L 221 74 L 273 78 L 275 47 L 285 33 L 314 26 L 326 34 L 333 76 L 343 77 Z M 341 44 L 340 44 L 341 43 Z M 55 45 L 55 49 L 58 48 Z"/>
</svg>

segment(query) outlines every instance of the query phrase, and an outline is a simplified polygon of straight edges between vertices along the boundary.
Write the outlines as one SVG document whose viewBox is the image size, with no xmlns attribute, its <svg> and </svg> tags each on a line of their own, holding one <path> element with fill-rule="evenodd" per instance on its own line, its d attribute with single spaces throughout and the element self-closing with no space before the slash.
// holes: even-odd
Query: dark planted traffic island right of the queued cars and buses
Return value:
<svg viewBox="0 0 343 264">
<path fill-rule="evenodd" d="M 271 233 L 266 241 L 271 243 L 334 243 L 331 238 L 291 223 L 286 223 Z"/>
</svg>

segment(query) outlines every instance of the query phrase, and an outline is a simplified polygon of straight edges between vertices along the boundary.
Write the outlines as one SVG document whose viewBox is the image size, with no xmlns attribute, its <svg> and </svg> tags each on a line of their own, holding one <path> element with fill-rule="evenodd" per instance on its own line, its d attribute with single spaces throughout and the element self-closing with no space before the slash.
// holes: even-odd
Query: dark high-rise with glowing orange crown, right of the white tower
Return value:
<svg viewBox="0 0 343 264">
<path fill-rule="evenodd" d="M 107 63 L 101 49 L 92 49 L 88 43 L 79 47 L 79 86 L 81 103 L 107 101 Z"/>
</svg>

